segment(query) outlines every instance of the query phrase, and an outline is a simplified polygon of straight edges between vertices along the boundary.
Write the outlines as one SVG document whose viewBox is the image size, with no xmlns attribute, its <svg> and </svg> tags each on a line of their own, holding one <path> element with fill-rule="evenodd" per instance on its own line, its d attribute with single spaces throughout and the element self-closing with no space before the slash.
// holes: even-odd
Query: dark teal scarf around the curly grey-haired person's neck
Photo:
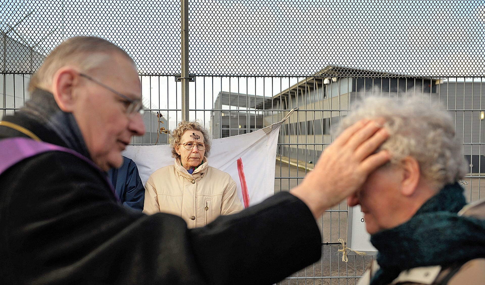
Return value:
<svg viewBox="0 0 485 285">
<path fill-rule="evenodd" d="M 485 220 L 456 214 L 466 204 L 463 191 L 457 183 L 446 185 L 409 221 L 371 236 L 381 267 L 371 285 L 387 285 L 414 267 L 485 257 Z"/>
</svg>

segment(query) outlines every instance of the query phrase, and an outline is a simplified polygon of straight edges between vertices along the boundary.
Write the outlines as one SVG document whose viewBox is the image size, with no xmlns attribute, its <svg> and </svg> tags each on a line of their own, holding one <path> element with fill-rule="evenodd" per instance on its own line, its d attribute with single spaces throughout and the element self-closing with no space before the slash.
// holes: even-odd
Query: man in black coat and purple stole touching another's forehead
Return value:
<svg viewBox="0 0 485 285">
<path fill-rule="evenodd" d="M 374 153 L 387 138 L 383 121 L 362 120 L 291 193 L 188 229 L 178 216 L 121 206 L 107 180 L 131 137 L 145 132 L 140 79 L 125 51 L 68 39 L 29 89 L 32 100 L 0 121 L 2 284 L 274 284 L 320 258 L 315 218 L 389 159 Z M 192 138 L 179 149 L 207 148 Z"/>
</svg>

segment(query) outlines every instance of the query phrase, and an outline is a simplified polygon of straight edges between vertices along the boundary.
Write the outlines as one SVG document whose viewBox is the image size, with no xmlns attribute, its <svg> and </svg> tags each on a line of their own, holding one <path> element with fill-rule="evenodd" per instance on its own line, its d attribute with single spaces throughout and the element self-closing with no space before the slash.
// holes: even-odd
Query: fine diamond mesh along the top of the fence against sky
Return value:
<svg viewBox="0 0 485 285">
<path fill-rule="evenodd" d="M 65 38 L 89 34 L 127 50 L 140 74 L 178 74 L 179 23 L 173 0 L 4 1 L 2 71 L 32 73 Z M 484 24 L 481 1 L 191 0 L 189 69 L 307 76 L 332 65 L 359 76 L 482 76 Z M 27 54 L 30 65 L 19 60 Z"/>
</svg>

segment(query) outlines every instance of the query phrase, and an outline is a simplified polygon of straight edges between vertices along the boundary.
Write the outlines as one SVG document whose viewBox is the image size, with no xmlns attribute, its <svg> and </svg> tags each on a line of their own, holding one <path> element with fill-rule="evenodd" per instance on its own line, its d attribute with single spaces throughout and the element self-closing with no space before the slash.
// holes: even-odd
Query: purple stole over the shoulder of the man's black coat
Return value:
<svg viewBox="0 0 485 285">
<path fill-rule="evenodd" d="M 119 201 L 118 196 L 115 194 L 113 186 L 108 181 L 104 172 L 95 165 L 91 160 L 87 159 L 85 156 L 81 155 L 79 152 L 76 152 L 71 149 L 67 149 L 61 146 L 49 144 L 42 141 L 35 141 L 30 138 L 26 137 L 13 137 L 13 138 L 6 138 L 0 140 L 0 174 L 2 174 L 5 170 L 16 165 L 20 161 L 32 157 L 36 154 L 40 154 L 47 151 L 64 151 L 71 153 L 85 162 L 89 163 L 91 166 L 97 169 L 103 177 L 106 178 L 108 185 L 110 185 L 110 190 L 113 192 L 113 195 L 116 197 L 116 200 Z"/>
</svg>

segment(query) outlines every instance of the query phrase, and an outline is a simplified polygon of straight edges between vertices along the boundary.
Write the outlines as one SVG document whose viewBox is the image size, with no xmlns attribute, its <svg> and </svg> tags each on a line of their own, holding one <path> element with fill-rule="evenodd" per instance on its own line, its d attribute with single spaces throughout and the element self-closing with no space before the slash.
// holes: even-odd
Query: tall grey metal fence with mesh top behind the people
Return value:
<svg viewBox="0 0 485 285">
<path fill-rule="evenodd" d="M 96 35 L 138 64 L 147 133 L 132 142 L 168 142 L 160 130 L 182 117 L 178 1 L 4 0 L 0 7 L 0 119 L 28 100 L 30 76 L 54 46 Z M 252 132 L 299 108 L 280 131 L 275 192 L 312 169 L 359 98 L 419 94 L 452 114 L 470 165 L 468 199 L 484 197 L 484 3 L 191 0 L 188 10 L 191 120 L 217 138 Z M 338 256 L 347 210 L 341 203 L 323 215 L 321 261 L 281 284 L 356 284 L 372 256 L 347 263 Z"/>
</svg>

